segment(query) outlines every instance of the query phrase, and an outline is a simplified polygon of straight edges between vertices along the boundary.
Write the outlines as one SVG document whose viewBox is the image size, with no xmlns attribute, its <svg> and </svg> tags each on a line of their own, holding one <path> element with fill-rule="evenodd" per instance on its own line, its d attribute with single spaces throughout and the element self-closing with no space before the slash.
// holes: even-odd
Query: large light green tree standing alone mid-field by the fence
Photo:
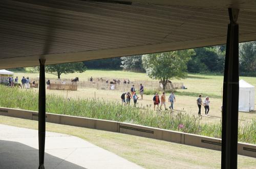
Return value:
<svg viewBox="0 0 256 169">
<path fill-rule="evenodd" d="M 161 81 L 165 91 L 169 79 L 186 76 L 187 62 L 195 54 L 194 49 L 145 54 L 142 56 L 142 64 L 148 76 Z"/>
</svg>

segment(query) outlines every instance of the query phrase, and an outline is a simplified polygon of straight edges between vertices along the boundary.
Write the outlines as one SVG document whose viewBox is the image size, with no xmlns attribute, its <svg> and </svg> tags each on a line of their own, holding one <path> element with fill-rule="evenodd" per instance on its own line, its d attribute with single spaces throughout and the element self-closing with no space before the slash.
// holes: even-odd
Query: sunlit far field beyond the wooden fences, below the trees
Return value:
<svg viewBox="0 0 256 169">
<path fill-rule="evenodd" d="M 22 76 L 36 78 L 39 77 L 39 73 L 18 73 L 15 72 L 14 76 L 18 76 L 21 79 Z M 61 78 L 74 78 L 79 77 L 80 81 L 87 81 L 90 77 L 113 77 L 113 78 L 125 78 L 130 80 L 152 80 L 146 73 L 135 73 L 121 70 L 87 70 L 83 73 L 70 73 L 62 74 Z M 46 73 L 46 78 L 57 78 L 53 74 Z M 249 82 L 251 85 L 256 86 L 256 77 L 240 77 Z M 174 82 L 183 82 L 187 90 L 179 90 L 184 93 L 183 95 L 197 96 L 198 94 L 217 96 L 221 98 L 221 91 L 223 87 L 223 76 L 220 75 L 206 75 L 206 74 L 188 74 L 185 79 L 174 79 Z"/>
</svg>

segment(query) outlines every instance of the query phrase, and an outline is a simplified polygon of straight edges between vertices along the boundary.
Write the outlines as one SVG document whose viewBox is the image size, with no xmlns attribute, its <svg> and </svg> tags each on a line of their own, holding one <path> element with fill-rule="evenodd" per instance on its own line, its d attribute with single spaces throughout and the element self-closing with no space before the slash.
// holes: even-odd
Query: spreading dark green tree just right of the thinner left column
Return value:
<svg viewBox="0 0 256 169">
<path fill-rule="evenodd" d="M 47 65 L 46 66 L 46 72 L 57 75 L 58 78 L 60 78 L 60 75 L 62 73 L 64 73 L 64 74 L 74 73 L 74 72 L 82 73 L 84 71 L 86 71 L 86 66 L 84 66 L 82 62 Z"/>
</svg>

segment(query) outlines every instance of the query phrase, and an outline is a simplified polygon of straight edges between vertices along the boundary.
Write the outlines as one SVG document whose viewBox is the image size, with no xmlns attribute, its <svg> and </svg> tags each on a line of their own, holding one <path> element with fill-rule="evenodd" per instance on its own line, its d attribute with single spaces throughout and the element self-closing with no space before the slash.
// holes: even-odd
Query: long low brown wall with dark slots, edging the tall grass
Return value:
<svg viewBox="0 0 256 169">
<path fill-rule="evenodd" d="M 0 115 L 29 120 L 38 120 L 38 112 L 36 111 L 0 107 Z M 120 132 L 124 134 L 160 139 L 167 142 L 221 151 L 221 139 L 196 134 L 188 134 L 130 123 L 119 123 L 115 121 L 81 118 L 50 113 L 46 114 L 46 121 L 50 123 Z M 238 143 L 238 154 L 256 158 L 256 145 Z"/>
</svg>

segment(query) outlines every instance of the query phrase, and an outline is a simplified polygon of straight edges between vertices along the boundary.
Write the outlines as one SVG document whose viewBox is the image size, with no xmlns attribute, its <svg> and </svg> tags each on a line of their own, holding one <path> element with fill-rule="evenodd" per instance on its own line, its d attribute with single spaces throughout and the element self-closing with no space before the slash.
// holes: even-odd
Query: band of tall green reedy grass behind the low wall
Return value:
<svg viewBox="0 0 256 169">
<path fill-rule="evenodd" d="M 38 111 L 38 95 L 30 90 L 0 86 L 0 106 Z M 156 112 L 146 106 L 122 106 L 104 99 L 65 99 L 47 95 L 46 110 L 54 114 L 140 124 L 221 138 L 221 123 L 202 124 L 201 118 L 182 112 Z M 239 126 L 238 140 L 256 144 L 256 120 Z"/>
</svg>

